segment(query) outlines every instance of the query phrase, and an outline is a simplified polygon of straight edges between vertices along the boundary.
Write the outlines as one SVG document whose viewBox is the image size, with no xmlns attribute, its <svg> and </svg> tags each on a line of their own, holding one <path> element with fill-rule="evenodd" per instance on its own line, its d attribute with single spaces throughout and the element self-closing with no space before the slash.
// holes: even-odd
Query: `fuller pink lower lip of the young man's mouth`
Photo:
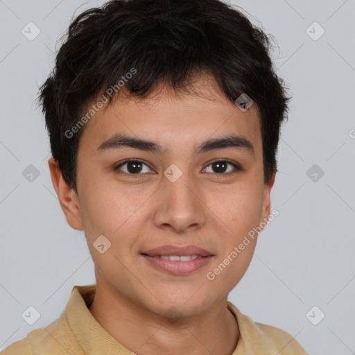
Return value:
<svg viewBox="0 0 355 355">
<path fill-rule="evenodd" d="M 166 260 L 160 257 L 150 257 L 149 255 L 144 254 L 141 254 L 141 256 L 156 268 L 175 275 L 190 274 L 191 272 L 206 266 L 212 259 L 212 255 L 189 261 Z"/>
</svg>

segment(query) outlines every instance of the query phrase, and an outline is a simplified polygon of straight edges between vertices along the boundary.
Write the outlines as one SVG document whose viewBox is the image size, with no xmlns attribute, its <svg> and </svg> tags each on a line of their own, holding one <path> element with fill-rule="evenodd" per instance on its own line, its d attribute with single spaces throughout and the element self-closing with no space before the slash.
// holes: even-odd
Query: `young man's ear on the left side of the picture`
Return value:
<svg viewBox="0 0 355 355">
<path fill-rule="evenodd" d="M 64 181 L 58 162 L 56 162 L 53 157 L 49 159 L 48 164 L 49 170 L 51 171 L 53 187 L 57 193 L 60 207 L 62 207 L 67 222 L 74 230 L 83 230 L 80 205 L 75 191 Z"/>
</svg>

